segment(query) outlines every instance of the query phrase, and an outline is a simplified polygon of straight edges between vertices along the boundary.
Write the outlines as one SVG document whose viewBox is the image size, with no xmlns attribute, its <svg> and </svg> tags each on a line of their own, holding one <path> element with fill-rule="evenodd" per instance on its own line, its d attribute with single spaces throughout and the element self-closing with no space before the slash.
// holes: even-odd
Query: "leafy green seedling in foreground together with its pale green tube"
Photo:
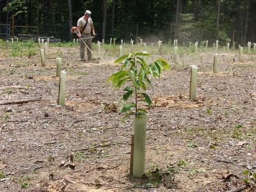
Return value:
<svg viewBox="0 0 256 192">
<path fill-rule="evenodd" d="M 125 113 L 123 118 L 133 115 L 135 117 L 134 123 L 134 151 L 133 153 L 133 168 L 132 175 L 141 178 L 145 172 L 145 140 L 146 140 L 146 124 L 147 124 L 147 110 L 139 107 L 140 102 L 145 102 L 148 108 L 152 105 L 152 100 L 145 93 L 147 86 L 152 86 L 148 76 L 155 78 L 161 76 L 164 69 L 169 69 L 170 66 L 166 60 L 158 59 L 153 63 L 147 64 L 143 60 L 143 56 L 150 56 L 150 54 L 143 52 L 131 52 L 129 55 L 118 58 L 114 63 L 121 63 L 125 60 L 121 69 L 110 76 L 107 82 L 112 81 L 113 86 L 118 90 L 124 83 L 129 84 L 125 87 L 123 95 L 124 106 L 121 113 Z M 131 100 L 133 102 L 127 102 Z"/>
</svg>

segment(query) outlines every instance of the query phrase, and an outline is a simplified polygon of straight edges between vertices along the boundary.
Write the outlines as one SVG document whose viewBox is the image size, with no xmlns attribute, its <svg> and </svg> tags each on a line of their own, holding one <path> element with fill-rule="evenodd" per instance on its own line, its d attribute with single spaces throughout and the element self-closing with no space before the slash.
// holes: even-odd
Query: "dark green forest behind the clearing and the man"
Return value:
<svg viewBox="0 0 256 192">
<path fill-rule="evenodd" d="M 256 42 L 255 0 L 2 0 L 0 23 L 15 26 L 15 35 L 51 35 L 62 40 L 72 39 L 70 26 L 85 10 L 92 11 L 97 38 L 129 40 L 143 38 L 179 42 L 220 40 Z"/>
</svg>

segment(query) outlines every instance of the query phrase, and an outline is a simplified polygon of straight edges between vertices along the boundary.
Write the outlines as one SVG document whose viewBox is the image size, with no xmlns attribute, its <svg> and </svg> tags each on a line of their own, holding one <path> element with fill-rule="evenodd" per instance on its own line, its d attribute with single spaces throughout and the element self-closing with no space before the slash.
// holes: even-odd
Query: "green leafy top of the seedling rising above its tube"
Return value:
<svg viewBox="0 0 256 192">
<path fill-rule="evenodd" d="M 160 77 L 161 72 L 165 69 L 169 69 L 169 65 L 166 60 L 158 59 L 153 63 L 147 64 L 143 57 L 150 56 L 150 54 L 143 52 L 131 52 L 129 55 L 118 58 L 115 63 L 121 63 L 122 67 L 118 72 L 110 76 L 107 82 L 112 81 L 113 86 L 118 90 L 123 84 L 130 84 L 125 86 L 125 93 L 123 100 L 126 102 L 121 109 L 121 113 L 126 113 L 124 118 L 129 115 L 147 115 L 145 108 L 138 108 L 139 102 L 145 102 L 148 108 L 152 105 L 152 100 L 145 93 L 148 86 L 152 86 L 149 76 Z M 134 95 L 135 102 L 127 102 Z M 141 99 L 141 97 L 143 99 Z M 135 110 L 134 110 L 135 109 Z"/>
</svg>

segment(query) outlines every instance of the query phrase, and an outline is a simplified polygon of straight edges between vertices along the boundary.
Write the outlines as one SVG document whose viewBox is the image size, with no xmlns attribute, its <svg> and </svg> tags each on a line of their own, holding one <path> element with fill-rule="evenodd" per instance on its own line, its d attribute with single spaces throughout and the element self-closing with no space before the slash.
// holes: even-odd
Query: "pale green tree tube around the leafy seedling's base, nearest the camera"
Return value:
<svg viewBox="0 0 256 192">
<path fill-rule="evenodd" d="M 141 178 L 145 173 L 147 116 L 135 118 L 132 176 Z"/>
</svg>

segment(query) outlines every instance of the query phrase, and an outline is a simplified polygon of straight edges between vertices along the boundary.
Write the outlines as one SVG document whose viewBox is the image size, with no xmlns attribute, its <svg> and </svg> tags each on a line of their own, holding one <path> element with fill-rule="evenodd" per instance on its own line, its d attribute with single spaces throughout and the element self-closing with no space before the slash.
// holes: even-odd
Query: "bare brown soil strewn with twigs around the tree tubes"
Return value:
<svg viewBox="0 0 256 192">
<path fill-rule="evenodd" d="M 47 67 L 38 55 L 1 51 L 0 191 L 255 191 L 243 182 L 244 170 L 256 172 L 255 55 L 238 62 L 236 52 L 220 52 L 220 72 L 213 74 L 214 52 L 184 54 L 152 79 L 148 176 L 140 180 L 129 177 L 132 119 L 120 121 L 123 91 L 106 84 L 118 70 L 115 58 L 81 63 L 78 51 L 49 47 Z M 65 106 L 56 104 L 57 56 L 67 70 Z M 199 67 L 195 102 L 188 98 L 191 64 Z"/>
</svg>

